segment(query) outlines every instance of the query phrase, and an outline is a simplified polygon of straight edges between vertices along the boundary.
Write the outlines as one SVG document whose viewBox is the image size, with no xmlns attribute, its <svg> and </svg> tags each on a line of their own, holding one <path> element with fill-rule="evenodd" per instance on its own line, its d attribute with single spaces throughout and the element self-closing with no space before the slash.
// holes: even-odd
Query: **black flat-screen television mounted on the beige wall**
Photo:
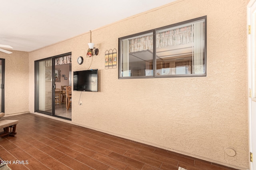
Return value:
<svg viewBox="0 0 256 170">
<path fill-rule="evenodd" d="M 73 90 L 98 92 L 98 69 L 73 72 Z"/>
</svg>

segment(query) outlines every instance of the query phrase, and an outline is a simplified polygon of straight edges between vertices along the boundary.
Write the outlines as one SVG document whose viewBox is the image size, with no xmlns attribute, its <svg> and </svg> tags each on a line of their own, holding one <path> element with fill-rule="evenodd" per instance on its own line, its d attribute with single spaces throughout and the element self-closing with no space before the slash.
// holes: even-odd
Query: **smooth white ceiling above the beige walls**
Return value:
<svg viewBox="0 0 256 170">
<path fill-rule="evenodd" d="M 33 51 L 176 0 L 0 0 L 0 44 Z"/>
</svg>

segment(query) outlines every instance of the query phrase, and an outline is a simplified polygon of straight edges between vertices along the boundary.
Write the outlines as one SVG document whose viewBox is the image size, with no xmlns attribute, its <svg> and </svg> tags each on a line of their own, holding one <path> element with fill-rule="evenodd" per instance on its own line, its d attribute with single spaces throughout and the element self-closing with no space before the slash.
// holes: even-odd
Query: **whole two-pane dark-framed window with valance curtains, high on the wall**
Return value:
<svg viewBox="0 0 256 170">
<path fill-rule="evenodd" d="M 119 78 L 206 76 L 206 16 L 119 39 Z"/>
</svg>

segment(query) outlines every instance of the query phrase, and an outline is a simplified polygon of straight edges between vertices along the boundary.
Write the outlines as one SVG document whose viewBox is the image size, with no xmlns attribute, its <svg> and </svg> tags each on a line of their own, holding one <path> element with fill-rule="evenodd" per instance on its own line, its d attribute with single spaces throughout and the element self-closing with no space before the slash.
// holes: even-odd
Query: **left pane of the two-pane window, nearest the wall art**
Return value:
<svg viewBox="0 0 256 170">
<path fill-rule="evenodd" d="M 153 76 L 153 32 L 122 39 L 120 77 Z"/>
</svg>

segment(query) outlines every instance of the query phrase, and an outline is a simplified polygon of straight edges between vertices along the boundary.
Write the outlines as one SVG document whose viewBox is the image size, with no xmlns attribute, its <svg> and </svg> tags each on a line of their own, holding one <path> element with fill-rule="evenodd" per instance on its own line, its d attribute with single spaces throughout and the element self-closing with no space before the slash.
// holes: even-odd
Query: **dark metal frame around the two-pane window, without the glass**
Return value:
<svg viewBox="0 0 256 170">
<path fill-rule="evenodd" d="M 143 31 L 143 32 L 140 32 L 140 33 L 135 33 L 135 34 L 132 34 L 132 35 L 127 35 L 127 36 L 124 36 L 124 37 L 120 37 L 118 38 L 118 56 L 119 56 L 119 60 L 118 60 L 118 79 L 136 79 L 136 78 L 173 78 L 173 77 L 206 77 L 206 72 L 207 72 L 207 55 L 206 55 L 206 52 L 207 52 L 207 16 L 202 16 L 202 17 L 198 17 L 198 18 L 194 18 L 194 19 L 191 19 L 191 20 L 186 20 L 186 21 L 182 21 L 182 22 L 179 22 L 179 23 L 174 23 L 174 24 L 171 24 L 171 25 L 166 25 L 164 27 L 159 27 L 159 28 L 156 28 L 156 29 L 151 29 L 151 30 L 148 30 L 148 31 Z M 171 74 L 171 75 L 156 75 L 156 32 L 158 30 L 161 30 L 161 29 L 167 29 L 167 28 L 171 28 L 171 27 L 176 27 L 176 26 L 179 26 L 179 25 L 184 25 L 186 23 L 191 23 L 191 22 L 195 22 L 195 21 L 200 21 L 200 20 L 204 20 L 204 51 L 203 51 L 203 55 L 204 55 L 204 73 L 202 74 Z M 125 39 L 128 39 L 128 38 L 133 38 L 133 37 L 138 37 L 140 35 L 143 35 L 143 34 L 148 34 L 148 33 L 153 33 L 153 76 L 126 76 L 126 77 L 123 77 L 121 76 L 121 69 L 123 68 L 122 67 L 122 54 L 121 54 L 121 51 L 122 51 L 122 47 L 121 47 L 121 41 L 125 40 Z"/>
</svg>

